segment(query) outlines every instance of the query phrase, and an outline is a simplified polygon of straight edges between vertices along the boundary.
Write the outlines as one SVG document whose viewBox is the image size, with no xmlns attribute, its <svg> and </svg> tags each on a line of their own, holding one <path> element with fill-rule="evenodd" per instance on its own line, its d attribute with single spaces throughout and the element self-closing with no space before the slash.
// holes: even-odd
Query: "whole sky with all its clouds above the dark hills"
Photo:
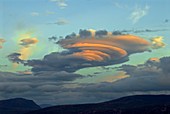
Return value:
<svg viewBox="0 0 170 114">
<path fill-rule="evenodd" d="M 169 0 L 0 0 L 0 99 L 169 94 Z"/>
</svg>

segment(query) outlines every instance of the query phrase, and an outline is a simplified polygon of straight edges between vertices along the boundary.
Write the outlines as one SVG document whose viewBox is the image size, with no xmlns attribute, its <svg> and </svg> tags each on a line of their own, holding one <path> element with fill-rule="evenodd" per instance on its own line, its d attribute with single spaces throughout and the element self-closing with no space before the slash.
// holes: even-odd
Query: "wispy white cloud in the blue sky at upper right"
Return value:
<svg viewBox="0 0 170 114">
<path fill-rule="evenodd" d="M 143 8 L 141 7 L 136 7 L 134 11 L 130 15 L 130 19 L 132 22 L 135 24 L 137 23 L 142 17 L 146 16 L 149 10 L 149 6 L 145 6 Z"/>
</svg>

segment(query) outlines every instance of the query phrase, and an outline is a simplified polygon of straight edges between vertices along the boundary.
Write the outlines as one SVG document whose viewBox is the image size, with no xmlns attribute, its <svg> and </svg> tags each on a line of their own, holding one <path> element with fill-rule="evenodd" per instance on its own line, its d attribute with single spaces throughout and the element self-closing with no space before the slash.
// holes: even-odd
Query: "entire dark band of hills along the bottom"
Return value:
<svg viewBox="0 0 170 114">
<path fill-rule="evenodd" d="M 23 98 L 0 101 L 0 114 L 170 114 L 170 95 L 134 95 L 91 104 L 40 108 Z"/>
</svg>

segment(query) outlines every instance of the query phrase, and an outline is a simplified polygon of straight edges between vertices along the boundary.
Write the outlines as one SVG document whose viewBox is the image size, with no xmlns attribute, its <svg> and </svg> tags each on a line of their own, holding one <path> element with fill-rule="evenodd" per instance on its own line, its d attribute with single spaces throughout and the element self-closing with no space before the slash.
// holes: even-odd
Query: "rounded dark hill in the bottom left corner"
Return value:
<svg viewBox="0 0 170 114">
<path fill-rule="evenodd" d="M 23 98 L 0 100 L 0 114 L 23 114 L 38 109 L 40 106 L 32 100 Z"/>
</svg>

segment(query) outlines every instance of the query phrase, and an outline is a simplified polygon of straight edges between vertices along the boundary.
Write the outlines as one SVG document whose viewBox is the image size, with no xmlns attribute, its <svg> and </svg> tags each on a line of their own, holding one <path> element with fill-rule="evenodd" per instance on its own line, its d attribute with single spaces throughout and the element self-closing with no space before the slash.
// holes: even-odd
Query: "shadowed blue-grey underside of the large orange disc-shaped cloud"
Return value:
<svg viewBox="0 0 170 114">
<path fill-rule="evenodd" d="M 46 55 L 42 60 L 28 60 L 25 65 L 32 66 L 33 72 L 41 71 L 66 71 L 75 72 L 81 68 L 95 67 L 95 66 L 105 66 L 111 64 L 118 64 L 128 61 L 128 58 L 124 58 L 119 61 L 109 61 L 109 62 L 89 62 L 83 58 L 72 56 L 73 50 L 70 52 L 53 52 Z M 76 50 L 74 50 L 75 52 Z M 78 51 L 78 50 L 77 50 Z"/>
</svg>

